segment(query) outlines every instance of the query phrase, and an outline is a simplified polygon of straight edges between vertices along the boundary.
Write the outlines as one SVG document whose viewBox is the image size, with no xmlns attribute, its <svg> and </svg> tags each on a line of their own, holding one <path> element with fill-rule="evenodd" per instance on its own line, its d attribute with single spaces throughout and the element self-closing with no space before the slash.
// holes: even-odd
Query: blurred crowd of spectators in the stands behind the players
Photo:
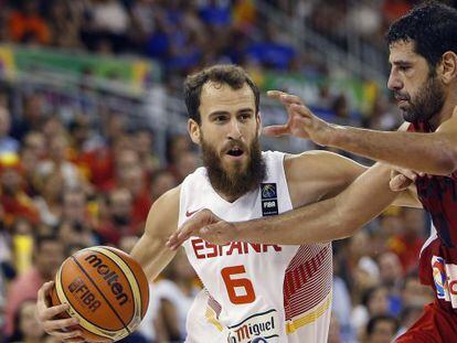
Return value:
<svg viewBox="0 0 457 343">
<path fill-rule="evenodd" d="M 266 2 L 302 15 L 337 42 L 341 15 L 359 22 L 351 9 L 360 3 L 363 19 L 376 20 L 354 30 L 368 30 L 357 34 L 374 43 L 371 34 L 381 42 L 385 25 L 415 1 Z M 254 1 L 0 0 L 0 42 L 144 54 L 160 61 L 164 83 L 177 87 L 187 73 L 219 62 L 328 73 L 264 20 Z M 344 97 L 327 90 L 322 103 L 347 116 Z M 87 114 L 63 118 L 50 101 L 43 94 L 0 88 L 0 342 L 55 342 L 44 337 L 33 315 L 41 283 L 81 248 L 129 251 L 153 201 L 200 164 L 187 135 L 168 137 L 161 161 L 156 132 L 134 129 L 124 114 L 97 108 L 95 127 Z M 380 95 L 370 114 L 361 122 L 366 127 L 398 125 L 386 96 Z M 417 277 L 428 231 L 423 211 L 392 207 L 354 237 L 334 243 L 329 342 L 391 342 L 414 322 L 433 299 Z M 178 255 L 150 287 L 148 317 L 125 342 L 182 341 L 187 311 L 201 287 L 185 257 Z"/>
</svg>

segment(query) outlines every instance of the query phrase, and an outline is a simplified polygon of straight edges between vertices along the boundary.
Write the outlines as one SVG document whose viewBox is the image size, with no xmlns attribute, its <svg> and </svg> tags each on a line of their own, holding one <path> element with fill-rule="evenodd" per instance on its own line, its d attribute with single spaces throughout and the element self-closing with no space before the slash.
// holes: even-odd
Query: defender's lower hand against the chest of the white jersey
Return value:
<svg viewBox="0 0 457 343">
<path fill-rule="evenodd" d="M 187 221 L 167 242 L 167 246 L 176 250 L 192 236 L 204 240 L 224 245 L 235 238 L 233 224 L 222 221 L 210 210 L 201 210 Z"/>
</svg>

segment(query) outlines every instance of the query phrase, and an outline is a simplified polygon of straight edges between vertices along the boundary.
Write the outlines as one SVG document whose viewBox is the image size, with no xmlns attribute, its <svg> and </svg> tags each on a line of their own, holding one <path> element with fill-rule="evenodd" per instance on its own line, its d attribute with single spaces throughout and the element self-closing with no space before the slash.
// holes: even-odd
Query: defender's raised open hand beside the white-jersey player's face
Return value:
<svg viewBox="0 0 457 343">
<path fill-rule="evenodd" d="M 319 146 L 328 146 L 334 131 L 331 124 L 315 116 L 298 96 L 279 90 L 269 90 L 267 95 L 286 107 L 288 119 L 284 125 L 265 127 L 265 135 L 275 137 L 291 135 L 311 139 Z"/>
</svg>

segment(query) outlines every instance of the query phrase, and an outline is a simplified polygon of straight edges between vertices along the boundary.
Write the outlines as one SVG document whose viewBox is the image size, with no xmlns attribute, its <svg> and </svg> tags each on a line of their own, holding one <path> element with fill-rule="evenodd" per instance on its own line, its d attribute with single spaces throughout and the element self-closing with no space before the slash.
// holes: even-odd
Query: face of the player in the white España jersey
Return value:
<svg viewBox="0 0 457 343">
<path fill-rule="evenodd" d="M 261 125 L 251 87 L 245 84 L 232 89 L 225 84 L 206 83 L 200 97 L 200 126 L 190 124 L 192 140 L 211 148 L 227 172 L 244 171 Z"/>
</svg>

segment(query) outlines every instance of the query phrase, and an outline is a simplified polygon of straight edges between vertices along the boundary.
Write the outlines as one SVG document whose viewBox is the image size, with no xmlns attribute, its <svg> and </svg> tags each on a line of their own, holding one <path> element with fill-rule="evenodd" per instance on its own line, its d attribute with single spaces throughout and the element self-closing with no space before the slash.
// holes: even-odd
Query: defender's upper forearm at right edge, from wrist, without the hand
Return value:
<svg viewBox="0 0 457 343">
<path fill-rule="evenodd" d="M 328 144 L 429 174 L 448 175 L 456 168 L 456 147 L 449 133 L 383 132 L 337 126 Z"/>
</svg>

